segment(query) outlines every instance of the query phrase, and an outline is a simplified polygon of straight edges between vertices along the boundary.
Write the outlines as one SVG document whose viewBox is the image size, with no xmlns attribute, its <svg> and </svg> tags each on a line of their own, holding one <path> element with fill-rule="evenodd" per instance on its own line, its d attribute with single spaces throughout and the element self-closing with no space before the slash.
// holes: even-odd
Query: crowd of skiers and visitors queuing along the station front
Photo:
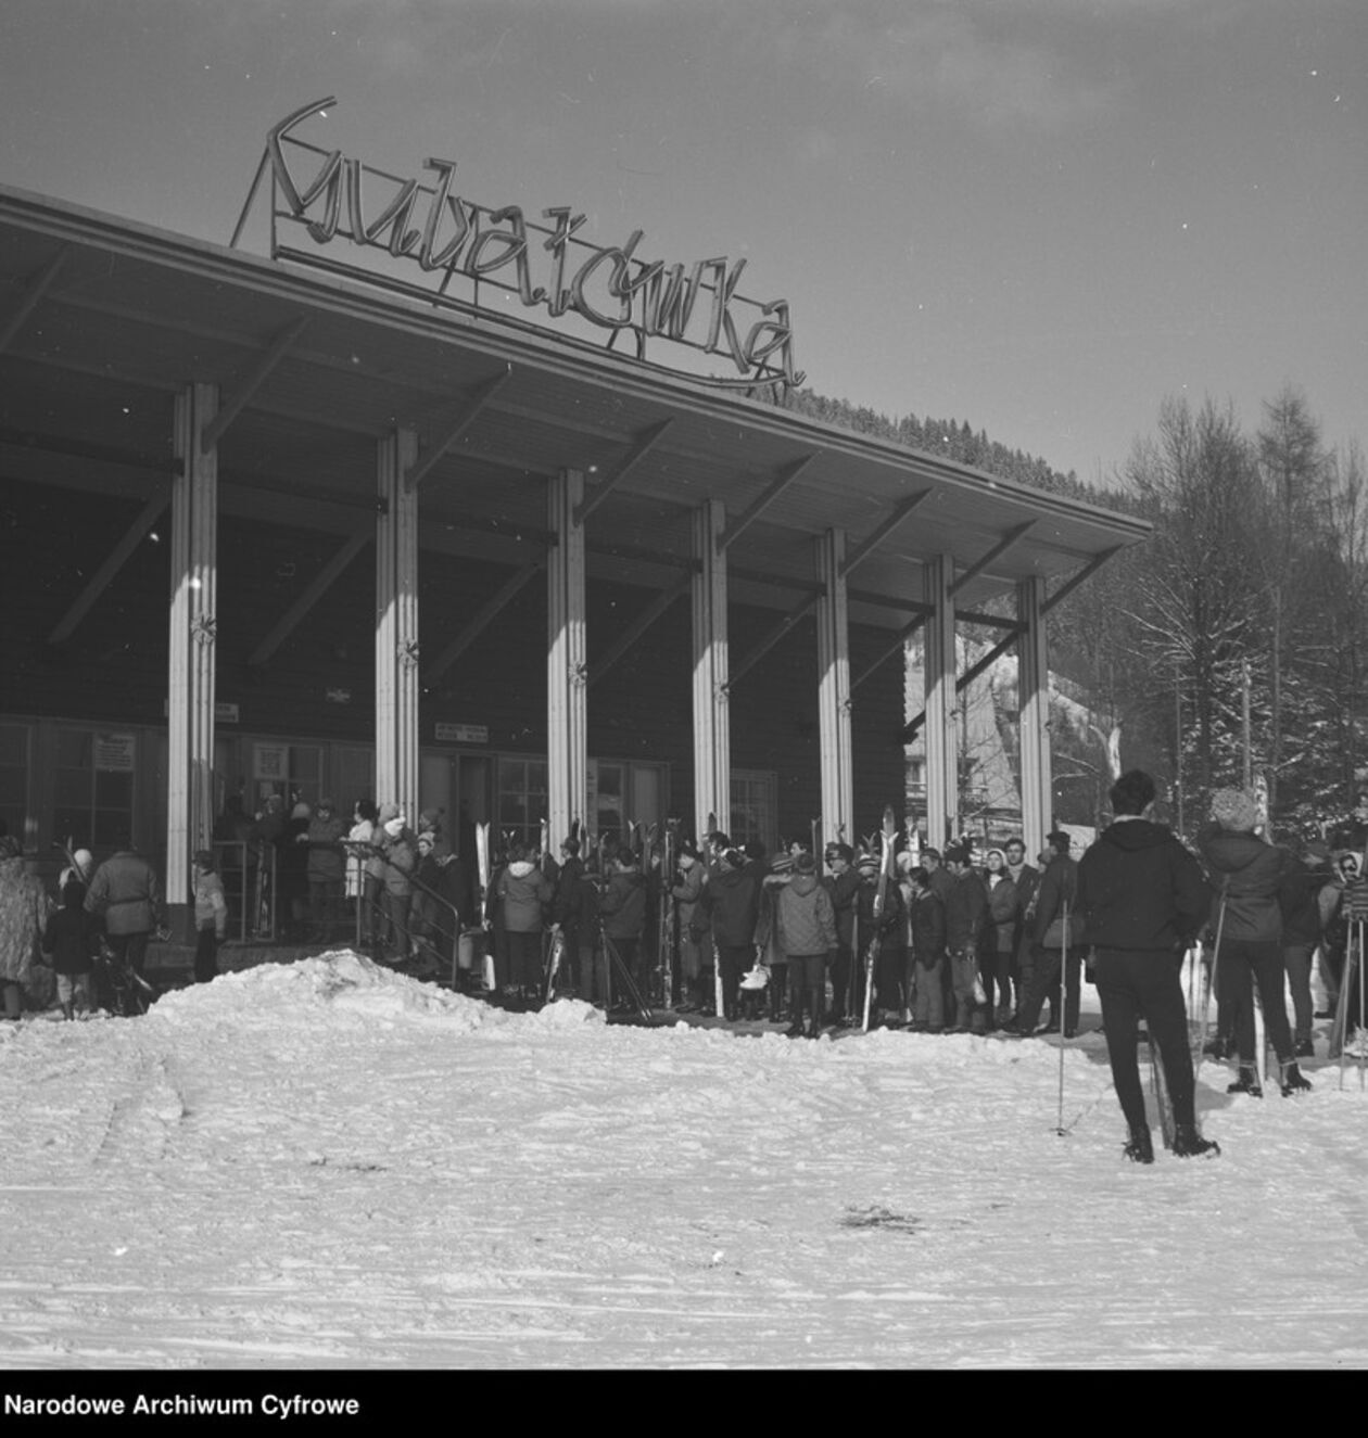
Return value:
<svg viewBox="0 0 1368 1438">
<path fill-rule="evenodd" d="M 1341 991 L 1351 942 L 1361 945 L 1368 919 L 1368 828 L 1277 846 L 1260 833 L 1253 795 L 1223 789 L 1194 854 L 1154 823 L 1154 785 L 1138 774 L 1112 791 L 1115 823 L 1082 863 L 1062 830 L 1034 863 L 1020 837 L 981 857 L 967 841 L 944 853 L 895 844 L 886 863 L 879 843 L 859 851 L 830 843 L 818 861 L 801 840 L 767 853 L 724 833 L 699 846 L 672 831 L 669 843 L 660 837 L 643 851 L 610 840 L 585 851 L 575 831 L 555 856 L 545 841 L 531 850 L 509 838 L 489 856 L 483 884 L 472 837 L 462 835 L 462 858 L 440 811 L 410 825 L 398 805 L 358 800 L 348 824 L 331 800 L 288 807 L 272 795 L 249 818 L 230 798 L 216 827 L 219 858 L 209 850 L 194 858 L 194 976 L 219 972 L 227 935 L 220 863 L 240 870 L 232 890 L 252 903 L 269 846 L 282 936 L 354 932 L 380 963 L 452 975 L 519 1007 L 577 995 L 608 1009 L 663 1005 L 781 1024 L 791 1037 L 867 1022 L 1067 1040 L 1079 1031 L 1086 965 L 1123 1071 L 1118 1094 L 1134 1110 L 1121 1035 L 1144 1018 L 1178 1063 L 1178 1024 L 1185 1043 L 1194 995 L 1178 995 L 1180 1015 L 1167 985 L 1172 965 L 1154 955 L 1181 962 L 1197 951 L 1216 975 L 1207 1051 L 1234 1060 L 1231 1091 L 1262 1091 L 1256 992 L 1285 1093 L 1305 1086 L 1298 1060 L 1315 1054 L 1313 1020 L 1336 1007 L 1344 1022 L 1329 1055 L 1339 1044 L 1361 1054 L 1361 958 L 1342 1004 Z M 56 975 L 68 1017 L 101 1002 L 102 953 L 142 981 L 163 916 L 155 870 L 127 835 L 98 867 L 85 850 L 72 856 L 50 894 L 26 873 L 17 841 L 0 835 L 6 1017 L 19 1015 L 37 955 Z M 1146 979 L 1161 969 L 1162 994 Z M 1190 1081 L 1178 1073 L 1171 1087 L 1175 1107 L 1185 1106 Z"/>
</svg>

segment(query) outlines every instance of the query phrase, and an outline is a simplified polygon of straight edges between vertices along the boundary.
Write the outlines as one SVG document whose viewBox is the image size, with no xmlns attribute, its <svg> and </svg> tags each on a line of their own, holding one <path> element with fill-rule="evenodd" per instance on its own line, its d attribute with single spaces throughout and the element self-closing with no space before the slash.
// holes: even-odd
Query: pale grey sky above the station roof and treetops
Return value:
<svg viewBox="0 0 1368 1438">
<path fill-rule="evenodd" d="M 227 243 L 266 129 L 745 256 L 808 384 L 1106 482 L 1161 400 L 1368 440 L 1368 0 L 4 0 L 0 183 Z"/>
</svg>

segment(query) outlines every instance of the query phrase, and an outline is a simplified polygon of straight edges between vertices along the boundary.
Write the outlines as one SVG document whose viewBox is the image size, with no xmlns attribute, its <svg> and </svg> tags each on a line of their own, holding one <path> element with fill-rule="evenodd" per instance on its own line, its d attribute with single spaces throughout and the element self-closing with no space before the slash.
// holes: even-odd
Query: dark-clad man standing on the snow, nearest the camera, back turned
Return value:
<svg viewBox="0 0 1368 1438">
<path fill-rule="evenodd" d="M 1116 1099 L 1131 1130 L 1125 1155 L 1154 1162 L 1145 1091 L 1135 1057 L 1138 1017 L 1159 1050 L 1174 1106 L 1174 1153 L 1220 1153 L 1197 1132 L 1193 1055 L 1180 969 L 1211 906 L 1201 866 L 1152 820 L 1154 779 L 1131 769 L 1111 792 L 1115 821 L 1079 864 L 1077 906 L 1093 965 Z"/>
</svg>

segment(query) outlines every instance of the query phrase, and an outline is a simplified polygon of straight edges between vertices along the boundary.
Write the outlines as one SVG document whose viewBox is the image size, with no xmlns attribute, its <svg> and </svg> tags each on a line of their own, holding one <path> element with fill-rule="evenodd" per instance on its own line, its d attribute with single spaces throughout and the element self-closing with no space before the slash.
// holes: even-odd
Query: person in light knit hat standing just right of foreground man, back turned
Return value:
<svg viewBox="0 0 1368 1438">
<path fill-rule="evenodd" d="M 1234 1009 L 1239 1077 L 1230 1093 L 1263 1097 L 1254 1063 L 1254 985 L 1263 1005 L 1269 1040 L 1277 1054 L 1285 1097 L 1303 1093 L 1310 1083 L 1296 1064 L 1287 1025 L 1283 975 L 1283 919 L 1277 896 L 1295 873 L 1296 861 L 1285 848 L 1266 843 L 1259 827 L 1259 805 L 1244 789 L 1217 789 L 1211 818 L 1197 831 L 1197 847 L 1220 889 L 1226 917 L 1217 959 L 1217 1002 Z M 1224 1018 L 1228 1021 L 1230 1014 Z"/>
</svg>

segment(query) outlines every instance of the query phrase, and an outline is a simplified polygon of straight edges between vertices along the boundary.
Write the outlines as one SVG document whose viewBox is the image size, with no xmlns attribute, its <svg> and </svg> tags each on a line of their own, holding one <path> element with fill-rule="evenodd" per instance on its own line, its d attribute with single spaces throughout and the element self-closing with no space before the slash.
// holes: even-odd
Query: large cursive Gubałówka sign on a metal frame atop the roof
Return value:
<svg viewBox="0 0 1368 1438">
<path fill-rule="evenodd" d="M 761 303 L 741 295 L 744 259 L 732 263 L 716 256 L 688 266 L 644 259 L 637 255 L 642 230 L 621 244 L 590 244 L 577 236 L 585 216 L 570 206 L 542 210 L 550 224 L 539 224 L 519 206 L 488 209 L 466 200 L 455 188 L 455 160 L 426 160 L 432 178 L 423 183 L 387 175 L 295 135 L 304 121 L 335 104 L 329 96 L 305 105 L 268 134 L 237 233 L 269 168 L 272 257 L 338 269 L 465 309 L 486 311 L 482 286 L 493 285 L 551 319 L 574 315 L 606 331 L 610 348 L 630 336 L 640 360 L 647 358 L 650 341 L 662 339 L 718 355 L 737 371 L 735 377 L 693 375 L 705 384 L 755 390 L 803 383 L 794 370 L 788 302 Z M 301 174 L 305 165 L 312 171 L 308 175 Z M 383 196 L 375 196 L 377 187 Z M 299 250 L 282 240 L 278 221 L 293 227 L 286 233 L 302 227 L 316 249 Z M 352 249 L 384 252 L 388 267 L 318 255 L 338 239 Z M 413 272 L 429 278 L 414 283 Z M 470 298 L 452 293 L 453 283 L 465 285 Z"/>
</svg>

